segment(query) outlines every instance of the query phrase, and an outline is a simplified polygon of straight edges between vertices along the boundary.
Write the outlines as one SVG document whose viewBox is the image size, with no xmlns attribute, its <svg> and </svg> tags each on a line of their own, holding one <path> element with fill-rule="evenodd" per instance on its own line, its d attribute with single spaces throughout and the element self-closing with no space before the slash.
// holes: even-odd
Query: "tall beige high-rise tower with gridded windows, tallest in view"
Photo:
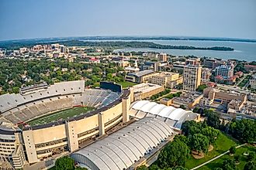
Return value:
<svg viewBox="0 0 256 170">
<path fill-rule="evenodd" d="M 183 90 L 195 91 L 201 83 L 202 66 L 186 65 L 183 72 Z"/>
</svg>

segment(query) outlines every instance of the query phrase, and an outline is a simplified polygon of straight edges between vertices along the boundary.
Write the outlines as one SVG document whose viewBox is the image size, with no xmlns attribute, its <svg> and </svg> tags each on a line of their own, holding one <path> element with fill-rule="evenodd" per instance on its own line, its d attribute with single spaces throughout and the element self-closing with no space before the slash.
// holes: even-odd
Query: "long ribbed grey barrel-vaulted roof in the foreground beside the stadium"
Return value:
<svg viewBox="0 0 256 170">
<path fill-rule="evenodd" d="M 174 131 L 155 117 L 144 117 L 74 152 L 71 158 L 92 169 L 123 170 L 152 151 Z"/>
</svg>

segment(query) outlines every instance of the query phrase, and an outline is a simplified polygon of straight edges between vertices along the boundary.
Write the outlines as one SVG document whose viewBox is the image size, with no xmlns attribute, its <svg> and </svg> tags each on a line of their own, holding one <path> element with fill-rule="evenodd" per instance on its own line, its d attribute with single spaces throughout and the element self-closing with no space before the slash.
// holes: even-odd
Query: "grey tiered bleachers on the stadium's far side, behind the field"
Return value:
<svg viewBox="0 0 256 170">
<path fill-rule="evenodd" d="M 0 112 L 14 124 L 33 120 L 44 114 L 84 105 L 97 109 L 118 100 L 120 93 L 107 89 L 86 89 L 84 81 L 55 83 L 47 89 L 24 94 L 0 96 Z"/>
</svg>

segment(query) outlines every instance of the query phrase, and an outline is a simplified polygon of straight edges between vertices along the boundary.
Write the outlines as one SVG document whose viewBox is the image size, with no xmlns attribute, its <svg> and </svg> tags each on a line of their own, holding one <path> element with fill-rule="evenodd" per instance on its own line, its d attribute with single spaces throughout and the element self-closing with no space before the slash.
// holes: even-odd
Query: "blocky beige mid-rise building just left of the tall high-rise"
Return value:
<svg viewBox="0 0 256 170">
<path fill-rule="evenodd" d="M 183 78 L 179 76 L 179 73 L 161 72 L 157 76 L 152 76 L 151 83 L 172 89 L 182 83 L 182 80 Z"/>
</svg>

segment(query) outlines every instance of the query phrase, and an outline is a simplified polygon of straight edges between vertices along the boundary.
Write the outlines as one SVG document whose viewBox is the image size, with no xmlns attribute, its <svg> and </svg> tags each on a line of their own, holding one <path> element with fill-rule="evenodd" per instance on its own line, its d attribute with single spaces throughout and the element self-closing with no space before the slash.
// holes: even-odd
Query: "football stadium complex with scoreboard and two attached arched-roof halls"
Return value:
<svg viewBox="0 0 256 170">
<path fill-rule="evenodd" d="M 85 81 L 23 87 L 0 96 L 0 160 L 23 168 L 71 155 L 89 169 L 127 169 L 168 143 L 197 114 L 147 100 L 133 87 Z"/>
</svg>

